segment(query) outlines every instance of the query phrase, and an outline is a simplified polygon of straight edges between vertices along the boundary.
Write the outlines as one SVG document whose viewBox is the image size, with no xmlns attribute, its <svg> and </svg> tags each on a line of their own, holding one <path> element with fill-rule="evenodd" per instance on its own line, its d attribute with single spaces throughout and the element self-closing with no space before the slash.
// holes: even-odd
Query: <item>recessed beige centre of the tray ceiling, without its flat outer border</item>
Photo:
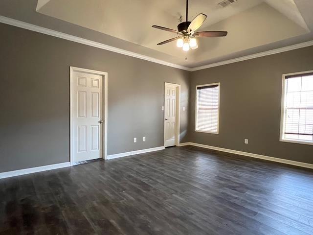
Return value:
<svg viewBox="0 0 313 235">
<path fill-rule="evenodd" d="M 225 8 L 220 7 L 219 2 L 189 1 L 189 20 L 199 13 L 208 16 L 201 31 L 228 31 L 226 38 L 198 39 L 200 48 L 188 52 L 189 63 L 212 60 L 309 32 L 293 0 L 238 0 Z M 175 42 L 157 46 L 176 35 L 151 27 L 157 24 L 176 29 L 179 16 L 185 20 L 183 0 L 39 0 L 38 3 L 37 12 L 42 14 L 171 56 L 185 56 Z"/>
</svg>

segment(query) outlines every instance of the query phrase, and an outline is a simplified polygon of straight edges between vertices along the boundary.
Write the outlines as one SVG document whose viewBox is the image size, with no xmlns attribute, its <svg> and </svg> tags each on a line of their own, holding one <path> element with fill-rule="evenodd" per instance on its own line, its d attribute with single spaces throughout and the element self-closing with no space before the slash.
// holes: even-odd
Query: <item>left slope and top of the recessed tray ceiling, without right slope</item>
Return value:
<svg viewBox="0 0 313 235">
<path fill-rule="evenodd" d="M 185 20 L 184 0 L 92 0 L 91 2 L 92 4 L 86 0 L 45 0 L 45 4 L 37 9 L 37 12 L 169 55 L 184 56 L 181 48 L 175 47 L 175 42 L 163 46 L 156 45 L 175 37 L 176 34 L 151 27 L 157 24 L 177 29 L 179 16 L 182 15 Z M 189 20 L 200 12 L 207 14 L 208 19 L 202 25 L 204 28 L 258 5 L 261 0 L 240 0 L 226 8 L 219 7 L 218 2 L 219 0 L 190 0 Z"/>
</svg>

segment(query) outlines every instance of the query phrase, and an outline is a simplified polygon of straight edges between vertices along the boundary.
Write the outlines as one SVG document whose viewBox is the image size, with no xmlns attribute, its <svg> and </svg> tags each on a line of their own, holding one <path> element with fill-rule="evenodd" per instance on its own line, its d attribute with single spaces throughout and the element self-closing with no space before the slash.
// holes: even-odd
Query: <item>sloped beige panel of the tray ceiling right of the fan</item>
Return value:
<svg viewBox="0 0 313 235">
<path fill-rule="evenodd" d="M 205 30 L 218 29 L 228 30 L 227 37 L 199 39 L 201 50 L 195 50 L 197 60 L 218 58 L 308 32 L 266 3 L 205 28 Z"/>
</svg>

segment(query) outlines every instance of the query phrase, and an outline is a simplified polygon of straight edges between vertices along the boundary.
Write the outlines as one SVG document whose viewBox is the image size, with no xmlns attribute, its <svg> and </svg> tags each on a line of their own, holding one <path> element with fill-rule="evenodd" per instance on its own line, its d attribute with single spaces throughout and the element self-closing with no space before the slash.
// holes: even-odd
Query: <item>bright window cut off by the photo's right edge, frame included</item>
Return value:
<svg viewBox="0 0 313 235">
<path fill-rule="evenodd" d="M 313 71 L 283 75 L 280 140 L 313 144 Z"/>
</svg>

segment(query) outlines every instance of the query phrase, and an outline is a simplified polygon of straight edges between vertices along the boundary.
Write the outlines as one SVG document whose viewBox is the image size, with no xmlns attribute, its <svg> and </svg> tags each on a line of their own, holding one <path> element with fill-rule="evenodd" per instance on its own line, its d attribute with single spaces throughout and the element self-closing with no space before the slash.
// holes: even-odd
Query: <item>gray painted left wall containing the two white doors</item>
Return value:
<svg viewBox="0 0 313 235">
<path fill-rule="evenodd" d="M 0 32 L 0 172 L 69 161 L 69 66 L 108 72 L 108 154 L 163 146 L 164 82 L 181 85 L 187 141 L 188 71 L 6 24 Z"/>
</svg>

